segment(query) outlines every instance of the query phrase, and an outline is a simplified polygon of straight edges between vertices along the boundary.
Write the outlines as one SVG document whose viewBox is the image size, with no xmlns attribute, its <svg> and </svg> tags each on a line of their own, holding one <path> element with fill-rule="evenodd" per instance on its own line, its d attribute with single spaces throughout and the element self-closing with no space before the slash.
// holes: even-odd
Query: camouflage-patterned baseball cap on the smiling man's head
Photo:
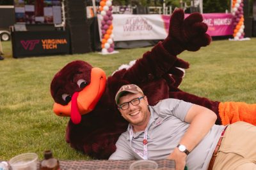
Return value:
<svg viewBox="0 0 256 170">
<path fill-rule="evenodd" d="M 141 92 L 143 94 L 143 91 L 137 85 L 134 85 L 134 84 L 123 85 L 122 87 L 120 87 L 120 89 L 116 93 L 116 97 L 115 97 L 116 104 L 118 104 L 119 98 L 122 96 L 122 94 L 124 94 L 124 92 L 130 92 L 133 94 L 138 94 Z"/>
</svg>

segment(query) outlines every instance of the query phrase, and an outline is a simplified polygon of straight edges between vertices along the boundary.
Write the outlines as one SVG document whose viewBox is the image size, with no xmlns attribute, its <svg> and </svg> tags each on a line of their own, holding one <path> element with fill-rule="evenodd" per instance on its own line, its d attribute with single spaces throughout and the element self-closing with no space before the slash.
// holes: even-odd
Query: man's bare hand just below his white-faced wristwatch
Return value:
<svg viewBox="0 0 256 170">
<path fill-rule="evenodd" d="M 186 157 L 186 153 L 180 152 L 178 148 L 175 148 L 167 159 L 175 160 L 175 170 L 184 170 L 186 165 Z"/>
</svg>

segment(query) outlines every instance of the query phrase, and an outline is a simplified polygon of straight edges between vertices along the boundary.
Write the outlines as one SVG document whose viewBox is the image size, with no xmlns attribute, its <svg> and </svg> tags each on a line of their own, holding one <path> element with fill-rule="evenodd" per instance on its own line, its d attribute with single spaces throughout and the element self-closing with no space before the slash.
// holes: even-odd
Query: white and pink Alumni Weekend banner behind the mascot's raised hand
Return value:
<svg viewBox="0 0 256 170">
<path fill-rule="evenodd" d="M 188 14 L 185 15 L 185 17 L 188 16 Z M 202 16 L 203 22 L 208 25 L 207 33 L 210 36 L 232 35 L 233 15 L 231 13 L 204 13 Z M 98 22 L 100 28 L 100 20 Z M 169 22 L 170 15 L 114 14 L 114 41 L 164 39 L 168 35 Z"/>
</svg>

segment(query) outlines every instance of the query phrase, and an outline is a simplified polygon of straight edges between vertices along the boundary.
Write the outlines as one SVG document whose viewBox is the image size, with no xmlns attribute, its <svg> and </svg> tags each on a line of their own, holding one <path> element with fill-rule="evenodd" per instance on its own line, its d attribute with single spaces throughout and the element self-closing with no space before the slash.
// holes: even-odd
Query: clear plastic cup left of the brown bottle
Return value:
<svg viewBox="0 0 256 170">
<path fill-rule="evenodd" d="M 36 153 L 22 153 L 10 159 L 12 170 L 36 170 L 38 155 Z"/>
</svg>

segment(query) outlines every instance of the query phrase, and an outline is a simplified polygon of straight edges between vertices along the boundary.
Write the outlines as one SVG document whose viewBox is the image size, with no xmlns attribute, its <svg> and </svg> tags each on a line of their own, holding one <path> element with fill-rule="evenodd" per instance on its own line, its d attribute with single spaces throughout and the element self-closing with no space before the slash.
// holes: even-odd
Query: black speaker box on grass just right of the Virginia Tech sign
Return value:
<svg viewBox="0 0 256 170">
<path fill-rule="evenodd" d="M 72 53 L 92 52 L 90 24 L 70 25 L 69 30 Z"/>
</svg>

